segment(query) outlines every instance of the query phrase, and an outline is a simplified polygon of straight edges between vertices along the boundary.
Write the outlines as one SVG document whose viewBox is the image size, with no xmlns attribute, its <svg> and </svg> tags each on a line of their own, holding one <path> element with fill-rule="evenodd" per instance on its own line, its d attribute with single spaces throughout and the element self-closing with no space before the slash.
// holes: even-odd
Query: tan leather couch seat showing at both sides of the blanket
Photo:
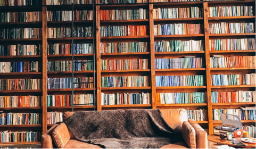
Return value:
<svg viewBox="0 0 256 149">
<path fill-rule="evenodd" d="M 76 139 L 70 139 L 69 142 L 63 148 L 102 148 L 98 145 L 93 145 L 85 142 L 80 142 Z M 161 148 L 188 148 L 185 142 L 177 142 L 174 144 L 168 144 Z"/>
</svg>

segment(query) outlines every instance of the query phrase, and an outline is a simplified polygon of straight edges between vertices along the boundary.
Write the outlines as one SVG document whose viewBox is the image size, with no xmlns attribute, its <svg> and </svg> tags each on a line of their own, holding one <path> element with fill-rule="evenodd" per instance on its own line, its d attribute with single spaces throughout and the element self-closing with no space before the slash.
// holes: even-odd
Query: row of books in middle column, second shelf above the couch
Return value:
<svg viewBox="0 0 256 149">
<path fill-rule="evenodd" d="M 101 77 L 101 87 L 142 87 L 150 86 L 148 76 Z"/>
</svg>

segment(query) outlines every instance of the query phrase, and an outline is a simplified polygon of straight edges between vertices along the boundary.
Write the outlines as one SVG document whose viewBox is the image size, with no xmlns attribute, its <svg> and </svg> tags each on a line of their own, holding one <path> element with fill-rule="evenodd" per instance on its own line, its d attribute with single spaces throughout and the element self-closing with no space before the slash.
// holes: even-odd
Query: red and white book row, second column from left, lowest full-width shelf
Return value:
<svg viewBox="0 0 256 149">
<path fill-rule="evenodd" d="M 92 104 L 93 94 L 74 94 L 73 104 Z M 71 106 L 72 95 L 47 95 L 47 106 Z"/>
</svg>

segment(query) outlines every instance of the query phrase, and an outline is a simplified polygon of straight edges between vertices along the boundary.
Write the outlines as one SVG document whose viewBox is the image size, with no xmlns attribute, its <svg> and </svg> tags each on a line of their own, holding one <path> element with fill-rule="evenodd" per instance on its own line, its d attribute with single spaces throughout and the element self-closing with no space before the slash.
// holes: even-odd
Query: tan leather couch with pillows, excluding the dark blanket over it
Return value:
<svg viewBox="0 0 256 149">
<path fill-rule="evenodd" d="M 208 148 L 207 133 L 194 120 L 187 119 L 185 109 L 164 109 L 161 110 L 163 118 L 167 121 L 172 129 L 183 135 L 184 141 L 175 144 L 169 144 L 161 148 Z M 64 112 L 63 120 L 69 118 L 75 112 Z M 53 136 L 55 130 L 61 132 L 55 145 Z M 101 148 L 76 140 L 64 123 L 55 124 L 44 135 L 42 135 L 42 148 Z M 59 145 L 61 144 L 61 145 Z"/>
</svg>

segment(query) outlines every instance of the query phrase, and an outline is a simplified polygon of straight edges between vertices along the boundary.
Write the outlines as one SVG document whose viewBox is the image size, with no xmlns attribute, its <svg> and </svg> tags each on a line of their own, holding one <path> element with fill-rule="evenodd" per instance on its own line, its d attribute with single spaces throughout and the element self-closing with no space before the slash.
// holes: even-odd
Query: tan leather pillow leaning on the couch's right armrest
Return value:
<svg viewBox="0 0 256 149">
<path fill-rule="evenodd" d="M 189 148 L 196 148 L 195 129 L 190 125 L 189 122 L 184 121 L 182 123 L 181 133 L 187 146 Z"/>
</svg>

